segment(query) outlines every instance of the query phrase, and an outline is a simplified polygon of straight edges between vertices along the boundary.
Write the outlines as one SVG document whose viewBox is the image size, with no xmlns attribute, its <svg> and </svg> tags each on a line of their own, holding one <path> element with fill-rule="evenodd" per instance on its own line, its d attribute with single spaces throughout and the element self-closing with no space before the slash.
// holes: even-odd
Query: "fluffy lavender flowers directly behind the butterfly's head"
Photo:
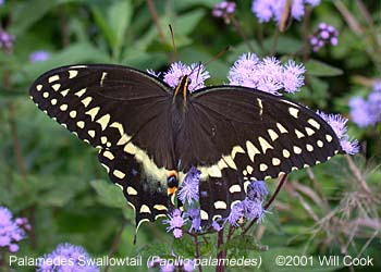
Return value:
<svg viewBox="0 0 381 272">
<path fill-rule="evenodd" d="M 156 75 L 153 71 L 149 71 L 149 73 Z M 174 62 L 171 64 L 169 71 L 164 73 L 163 79 L 174 88 L 177 86 L 179 79 L 184 75 L 188 75 L 190 78 L 188 86 L 190 91 L 205 87 L 205 81 L 210 77 L 209 72 L 200 63 L 193 63 L 188 66 L 182 62 Z"/>
</svg>

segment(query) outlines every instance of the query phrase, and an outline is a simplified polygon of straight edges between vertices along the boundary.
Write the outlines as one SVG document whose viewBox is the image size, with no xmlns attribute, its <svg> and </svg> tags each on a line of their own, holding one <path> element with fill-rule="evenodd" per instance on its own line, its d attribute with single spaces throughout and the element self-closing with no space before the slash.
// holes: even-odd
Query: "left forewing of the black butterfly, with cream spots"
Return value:
<svg viewBox="0 0 381 272">
<path fill-rule="evenodd" d="M 170 90 L 135 70 L 75 65 L 44 74 L 30 95 L 42 111 L 81 139 L 109 149 L 122 146 L 160 115 Z"/>
</svg>

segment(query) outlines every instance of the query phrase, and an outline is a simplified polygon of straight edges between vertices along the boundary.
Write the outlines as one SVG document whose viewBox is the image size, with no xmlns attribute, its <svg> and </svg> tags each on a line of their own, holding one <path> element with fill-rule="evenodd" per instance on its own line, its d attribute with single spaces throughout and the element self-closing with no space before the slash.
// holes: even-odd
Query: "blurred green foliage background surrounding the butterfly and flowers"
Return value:
<svg viewBox="0 0 381 272">
<path fill-rule="evenodd" d="M 148 2 L 29 0 L 4 1 L 0 7 L 1 27 L 15 37 L 12 52 L 0 53 L 0 206 L 10 208 L 14 215 L 27 217 L 33 224 L 20 244 L 19 256 L 38 257 L 63 242 L 84 246 L 93 257 L 107 256 L 120 230 L 116 257 L 171 254 L 173 238 L 160 222 L 144 224 L 133 245 L 133 211 L 108 181 L 97 151 L 40 112 L 28 97 L 33 81 L 57 66 L 120 63 L 143 71 L 165 71 L 174 60 L 206 63 L 230 46 L 207 66 L 211 75 L 207 84 L 222 84 L 237 57 L 249 51 L 234 24 L 211 16 L 218 1 L 153 1 L 155 10 Z M 366 96 L 373 79 L 381 77 L 379 1 L 322 1 L 308 22 L 294 21 L 279 33 L 275 47 L 276 25 L 259 24 L 250 5 L 251 1 L 238 1 L 234 16 L 254 52 L 265 57 L 275 48 L 279 59 L 306 65 L 306 85 L 292 97 L 298 102 L 348 116 L 348 99 Z M 308 51 L 303 59 L 304 28 L 310 35 L 319 22 L 339 29 L 339 45 L 318 53 Z M 37 50 L 49 52 L 50 58 L 30 62 L 29 54 Z M 263 254 L 263 271 L 279 269 L 271 258 L 280 252 L 371 256 L 376 267 L 353 269 L 380 271 L 380 124 L 358 128 L 349 120 L 348 126 L 349 135 L 360 140 L 360 153 L 352 159 L 337 156 L 291 174 L 271 212 L 251 232 L 253 243 L 269 247 Z M 268 184 L 271 194 L 275 182 Z M 209 242 L 206 256 L 216 256 L 216 237 Z M 239 246 L 232 254 L 258 255 Z M 206 268 L 209 270 L 213 269 Z"/>
</svg>

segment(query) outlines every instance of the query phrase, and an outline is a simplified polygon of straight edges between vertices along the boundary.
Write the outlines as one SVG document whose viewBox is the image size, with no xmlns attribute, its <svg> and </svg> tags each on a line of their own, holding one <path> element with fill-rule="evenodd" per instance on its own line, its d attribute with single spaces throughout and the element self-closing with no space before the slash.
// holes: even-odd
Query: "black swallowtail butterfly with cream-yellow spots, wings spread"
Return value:
<svg viewBox="0 0 381 272">
<path fill-rule="evenodd" d="M 30 87 L 37 106 L 99 149 L 99 161 L 135 209 L 137 227 L 175 205 L 184 174 L 200 170 L 204 225 L 228 217 L 250 181 L 276 177 L 342 151 L 309 109 L 241 86 L 189 92 L 135 69 L 63 66 Z"/>
</svg>

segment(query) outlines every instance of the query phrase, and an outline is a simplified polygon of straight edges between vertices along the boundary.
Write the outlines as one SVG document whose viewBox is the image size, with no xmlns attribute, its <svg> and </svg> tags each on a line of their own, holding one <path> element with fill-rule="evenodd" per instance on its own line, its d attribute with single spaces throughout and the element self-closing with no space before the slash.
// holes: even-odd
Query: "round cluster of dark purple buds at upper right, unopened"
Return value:
<svg viewBox="0 0 381 272">
<path fill-rule="evenodd" d="M 309 42 L 312 47 L 314 52 L 318 52 L 325 45 L 337 46 L 339 44 L 339 32 L 332 25 L 320 23 L 318 28 L 314 30 Z"/>
</svg>

